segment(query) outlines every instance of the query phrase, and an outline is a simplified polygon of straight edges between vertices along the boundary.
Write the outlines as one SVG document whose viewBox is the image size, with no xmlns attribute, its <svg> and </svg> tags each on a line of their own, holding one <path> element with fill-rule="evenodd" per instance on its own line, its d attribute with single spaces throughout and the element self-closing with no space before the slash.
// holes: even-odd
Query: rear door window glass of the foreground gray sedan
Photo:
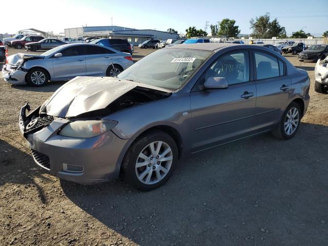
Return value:
<svg viewBox="0 0 328 246">
<path fill-rule="evenodd" d="M 267 53 L 255 51 L 257 79 L 280 76 L 278 58 Z"/>
</svg>

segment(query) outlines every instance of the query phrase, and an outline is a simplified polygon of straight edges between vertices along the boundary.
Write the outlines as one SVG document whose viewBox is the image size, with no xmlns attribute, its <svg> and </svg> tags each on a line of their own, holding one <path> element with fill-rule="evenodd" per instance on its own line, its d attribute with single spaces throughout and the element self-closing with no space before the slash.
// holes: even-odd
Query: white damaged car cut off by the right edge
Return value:
<svg viewBox="0 0 328 246">
<path fill-rule="evenodd" d="M 318 59 L 314 69 L 314 76 L 316 78 L 314 89 L 319 93 L 328 92 L 328 56 L 320 60 Z"/>
</svg>

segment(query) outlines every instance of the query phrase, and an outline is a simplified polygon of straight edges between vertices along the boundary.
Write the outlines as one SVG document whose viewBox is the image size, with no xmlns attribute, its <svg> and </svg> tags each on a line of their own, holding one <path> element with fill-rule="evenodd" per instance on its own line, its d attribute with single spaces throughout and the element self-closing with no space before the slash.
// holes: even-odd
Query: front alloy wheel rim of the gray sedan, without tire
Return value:
<svg viewBox="0 0 328 246">
<path fill-rule="evenodd" d="M 173 161 L 171 147 L 163 141 L 154 141 L 138 155 L 135 172 L 140 182 L 154 185 L 170 171 Z"/>
</svg>

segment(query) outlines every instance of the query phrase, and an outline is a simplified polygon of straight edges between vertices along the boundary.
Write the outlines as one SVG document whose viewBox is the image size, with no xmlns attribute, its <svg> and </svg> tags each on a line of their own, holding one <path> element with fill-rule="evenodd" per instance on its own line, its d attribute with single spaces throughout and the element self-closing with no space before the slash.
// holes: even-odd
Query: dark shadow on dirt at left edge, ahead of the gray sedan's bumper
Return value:
<svg viewBox="0 0 328 246">
<path fill-rule="evenodd" d="M 26 152 L 8 144 L 8 141 L 14 141 L 15 145 L 26 150 Z M 47 199 L 44 190 L 35 180 L 47 181 L 48 178 L 43 175 L 45 172 L 36 166 L 33 158 L 27 154 L 30 150 L 20 141 L 3 134 L 0 135 L 0 150 L 0 188 L 6 183 L 35 187 L 40 202 L 46 204 Z"/>
</svg>

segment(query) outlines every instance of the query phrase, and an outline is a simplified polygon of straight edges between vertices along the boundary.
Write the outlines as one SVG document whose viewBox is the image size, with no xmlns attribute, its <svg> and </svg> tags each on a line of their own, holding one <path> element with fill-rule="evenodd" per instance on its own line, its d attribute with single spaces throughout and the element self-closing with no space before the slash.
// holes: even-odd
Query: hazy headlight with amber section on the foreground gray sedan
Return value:
<svg viewBox="0 0 328 246">
<path fill-rule="evenodd" d="M 89 138 L 108 132 L 115 127 L 113 120 L 76 120 L 66 125 L 59 135 L 67 137 Z"/>
</svg>

